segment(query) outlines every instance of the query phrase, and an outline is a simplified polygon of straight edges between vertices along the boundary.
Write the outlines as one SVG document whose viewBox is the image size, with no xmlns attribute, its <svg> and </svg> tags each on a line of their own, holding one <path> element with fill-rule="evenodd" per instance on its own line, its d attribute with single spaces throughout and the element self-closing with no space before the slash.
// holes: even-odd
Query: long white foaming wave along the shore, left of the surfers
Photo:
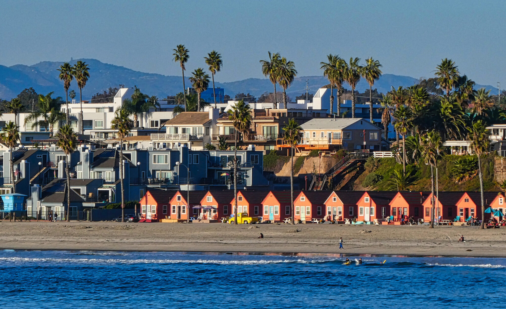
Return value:
<svg viewBox="0 0 506 309">
<path fill-rule="evenodd" d="M 283 259 L 283 260 L 220 260 L 220 259 L 119 259 L 119 258 L 54 258 L 54 257 L 0 257 L 2 263 L 98 263 L 98 264 L 219 264 L 219 265 L 263 265 L 281 263 L 328 263 L 342 261 L 340 259 L 315 260 L 315 259 Z"/>
</svg>

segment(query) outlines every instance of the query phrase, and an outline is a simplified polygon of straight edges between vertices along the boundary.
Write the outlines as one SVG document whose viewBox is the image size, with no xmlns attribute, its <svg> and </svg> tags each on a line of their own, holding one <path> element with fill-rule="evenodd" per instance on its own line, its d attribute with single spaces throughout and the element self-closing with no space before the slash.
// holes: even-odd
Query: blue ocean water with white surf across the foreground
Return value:
<svg viewBox="0 0 506 309">
<path fill-rule="evenodd" d="M 502 306 L 506 259 L 0 251 L 2 308 Z M 381 264 L 386 260 L 385 264 Z"/>
</svg>

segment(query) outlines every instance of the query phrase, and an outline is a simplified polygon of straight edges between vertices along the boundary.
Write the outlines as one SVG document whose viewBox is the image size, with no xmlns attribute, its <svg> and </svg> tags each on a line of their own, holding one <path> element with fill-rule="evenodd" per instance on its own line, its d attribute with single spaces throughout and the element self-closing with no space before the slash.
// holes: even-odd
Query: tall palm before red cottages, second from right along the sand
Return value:
<svg viewBox="0 0 506 309">
<path fill-rule="evenodd" d="M 436 210 L 434 197 L 434 167 L 437 165 L 439 158 L 439 149 L 442 149 L 443 143 L 441 136 L 436 130 L 429 131 L 421 138 L 421 155 L 426 164 L 431 165 L 431 191 L 432 191 L 432 211 L 431 211 L 431 228 L 434 228 L 434 212 Z"/>
</svg>

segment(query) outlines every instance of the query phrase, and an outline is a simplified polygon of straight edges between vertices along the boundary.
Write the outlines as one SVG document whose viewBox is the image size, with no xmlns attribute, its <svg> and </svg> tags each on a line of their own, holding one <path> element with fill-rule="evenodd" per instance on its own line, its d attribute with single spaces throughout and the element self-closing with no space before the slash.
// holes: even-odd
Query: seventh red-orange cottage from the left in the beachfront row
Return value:
<svg viewBox="0 0 506 309">
<path fill-rule="evenodd" d="M 356 218 L 357 201 L 363 194 L 364 191 L 333 191 L 324 202 L 325 216 L 337 221 Z"/>
</svg>

